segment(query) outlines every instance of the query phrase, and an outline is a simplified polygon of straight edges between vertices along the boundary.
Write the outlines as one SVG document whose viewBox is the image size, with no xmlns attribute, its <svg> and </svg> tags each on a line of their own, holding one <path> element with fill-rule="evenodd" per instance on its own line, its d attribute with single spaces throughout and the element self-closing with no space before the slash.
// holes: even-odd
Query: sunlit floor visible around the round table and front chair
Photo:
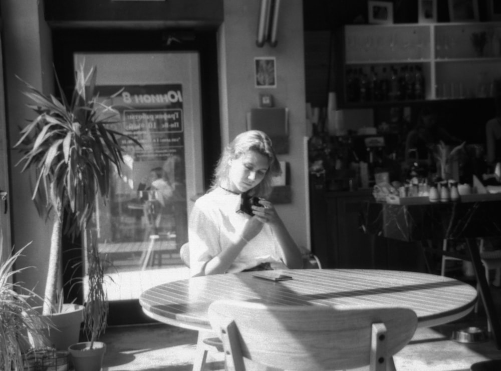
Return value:
<svg viewBox="0 0 501 371">
<path fill-rule="evenodd" d="M 492 289 L 501 311 L 501 289 Z M 501 315 L 501 313 L 499 313 Z M 451 340 L 454 329 L 486 326 L 480 309 L 460 321 L 433 328 L 419 328 L 411 342 L 395 356 L 398 371 L 461 371 L 486 360 L 501 359 L 492 340 L 464 344 Z M 164 324 L 110 327 L 102 340 L 108 344 L 103 371 L 188 371 L 195 354 L 196 332 Z M 222 354 L 209 353 L 208 369 L 222 370 Z"/>
</svg>

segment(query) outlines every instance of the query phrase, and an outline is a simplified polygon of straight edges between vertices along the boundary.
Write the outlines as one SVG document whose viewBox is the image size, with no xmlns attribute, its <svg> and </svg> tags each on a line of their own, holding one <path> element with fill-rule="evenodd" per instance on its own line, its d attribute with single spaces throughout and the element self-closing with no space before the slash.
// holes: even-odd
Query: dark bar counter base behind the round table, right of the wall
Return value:
<svg viewBox="0 0 501 371">
<path fill-rule="evenodd" d="M 360 228 L 361 202 L 373 199 L 371 190 L 325 192 L 315 179 L 310 190 L 312 250 L 323 268 L 426 271 L 415 243 L 371 236 Z"/>
</svg>

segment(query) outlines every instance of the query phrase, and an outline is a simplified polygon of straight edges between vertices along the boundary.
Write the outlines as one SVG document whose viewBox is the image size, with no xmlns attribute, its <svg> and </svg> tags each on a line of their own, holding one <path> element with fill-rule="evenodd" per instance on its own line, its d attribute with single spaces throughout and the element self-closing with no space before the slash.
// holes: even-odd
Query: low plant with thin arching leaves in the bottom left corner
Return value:
<svg viewBox="0 0 501 371">
<path fill-rule="evenodd" d="M 0 243 L 0 246 L 2 244 Z M 27 245 L 28 246 L 28 245 Z M 28 334 L 44 337 L 51 325 L 46 317 L 32 307 L 38 298 L 33 291 L 14 281 L 15 275 L 28 267 L 14 270 L 14 263 L 23 247 L 0 265 L 0 369 L 23 369 L 23 352 L 29 348 Z"/>
</svg>

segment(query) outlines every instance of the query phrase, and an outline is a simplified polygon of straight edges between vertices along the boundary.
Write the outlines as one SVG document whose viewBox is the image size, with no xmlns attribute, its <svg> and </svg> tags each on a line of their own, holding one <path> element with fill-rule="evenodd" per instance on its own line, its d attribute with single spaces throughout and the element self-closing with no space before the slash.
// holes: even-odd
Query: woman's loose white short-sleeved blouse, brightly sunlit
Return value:
<svg viewBox="0 0 501 371">
<path fill-rule="evenodd" d="M 190 274 L 203 272 L 205 264 L 234 244 L 250 218 L 238 209 L 240 195 L 216 188 L 196 200 L 189 218 Z M 281 262 L 279 246 L 268 224 L 243 250 L 227 270 L 241 272 L 264 262 Z"/>
</svg>

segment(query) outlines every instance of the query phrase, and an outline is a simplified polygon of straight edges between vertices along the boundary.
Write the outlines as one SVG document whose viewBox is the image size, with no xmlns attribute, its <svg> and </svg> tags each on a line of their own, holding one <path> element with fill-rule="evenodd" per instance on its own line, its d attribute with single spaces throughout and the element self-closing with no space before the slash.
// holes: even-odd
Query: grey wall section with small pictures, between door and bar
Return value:
<svg viewBox="0 0 501 371">
<path fill-rule="evenodd" d="M 303 41 L 303 2 L 280 3 L 278 45 L 256 46 L 260 2 L 224 0 L 224 23 L 220 29 L 220 90 L 222 144 L 246 130 L 245 115 L 258 107 L 259 93 L 271 93 L 276 107 L 289 108 L 290 150 L 279 159 L 288 161 L 291 170 L 293 203 L 277 210 L 295 241 L 309 246 L 307 237 L 307 190 L 305 188 L 303 138 L 306 135 L 305 66 Z M 277 87 L 257 89 L 254 83 L 254 58 L 276 58 Z"/>
</svg>

